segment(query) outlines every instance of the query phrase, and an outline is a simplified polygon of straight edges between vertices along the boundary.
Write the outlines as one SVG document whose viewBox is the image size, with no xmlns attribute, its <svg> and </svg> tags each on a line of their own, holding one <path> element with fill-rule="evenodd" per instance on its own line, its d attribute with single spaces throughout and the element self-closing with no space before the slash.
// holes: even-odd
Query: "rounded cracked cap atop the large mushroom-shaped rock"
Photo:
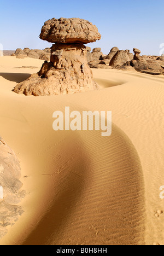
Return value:
<svg viewBox="0 0 164 256">
<path fill-rule="evenodd" d="M 42 27 L 40 38 L 50 43 L 87 44 L 101 39 L 97 27 L 79 18 L 51 19 Z"/>
</svg>

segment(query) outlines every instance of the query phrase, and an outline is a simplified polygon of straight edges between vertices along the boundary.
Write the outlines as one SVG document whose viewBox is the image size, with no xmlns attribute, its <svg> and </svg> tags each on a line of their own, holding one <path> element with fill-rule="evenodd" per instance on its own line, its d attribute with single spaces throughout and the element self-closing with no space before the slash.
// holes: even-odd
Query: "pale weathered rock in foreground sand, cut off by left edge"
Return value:
<svg viewBox="0 0 164 256">
<path fill-rule="evenodd" d="M 19 161 L 0 137 L 0 186 L 3 188 L 3 199 L 0 199 L 0 237 L 6 234 L 6 227 L 13 225 L 23 213 L 22 208 L 16 205 L 25 196 L 25 192 L 20 191 L 20 177 Z"/>
</svg>

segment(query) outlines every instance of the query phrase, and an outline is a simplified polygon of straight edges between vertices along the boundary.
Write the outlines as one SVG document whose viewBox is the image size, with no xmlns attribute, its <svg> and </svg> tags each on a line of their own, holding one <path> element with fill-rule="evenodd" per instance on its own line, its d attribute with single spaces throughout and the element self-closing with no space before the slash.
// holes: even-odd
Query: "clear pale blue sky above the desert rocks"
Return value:
<svg viewBox="0 0 164 256">
<path fill-rule="evenodd" d="M 88 46 L 101 47 L 104 54 L 118 46 L 159 55 L 164 43 L 163 0 L 0 0 L 0 9 L 4 50 L 51 46 L 39 39 L 40 30 L 46 20 L 61 17 L 82 18 L 96 25 L 102 39 Z"/>
</svg>

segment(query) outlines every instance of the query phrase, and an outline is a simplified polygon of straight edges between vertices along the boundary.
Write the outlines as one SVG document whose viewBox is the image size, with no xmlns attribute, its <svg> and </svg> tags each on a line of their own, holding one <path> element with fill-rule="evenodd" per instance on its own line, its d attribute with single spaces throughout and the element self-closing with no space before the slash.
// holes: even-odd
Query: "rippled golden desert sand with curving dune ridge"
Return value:
<svg viewBox="0 0 164 256">
<path fill-rule="evenodd" d="M 0 57 L 0 133 L 26 191 L 24 214 L 0 245 L 164 245 L 163 75 L 93 69 L 99 90 L 15 94 L 43 62 Z M 52 113 L 65 106 L 112 110 L 112 136 L 55 132 Z"/>
</svg>

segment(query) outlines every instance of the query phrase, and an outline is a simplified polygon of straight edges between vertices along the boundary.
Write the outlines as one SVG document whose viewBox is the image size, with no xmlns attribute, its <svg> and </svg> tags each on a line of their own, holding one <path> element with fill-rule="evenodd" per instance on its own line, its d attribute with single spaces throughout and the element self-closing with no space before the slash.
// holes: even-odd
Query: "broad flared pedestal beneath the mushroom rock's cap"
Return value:
<svg viewBox="0 0 164 256">
<path fill-rule="evenodd" d="M 87 65 L 86 46 L 54 44 L 51 62 L 45 62 L 39 73 L 32 74 L 14 91 L 27 96 L 48 96 L 95 89 L 98 89 L 98 85 Z"/>
</svg>

